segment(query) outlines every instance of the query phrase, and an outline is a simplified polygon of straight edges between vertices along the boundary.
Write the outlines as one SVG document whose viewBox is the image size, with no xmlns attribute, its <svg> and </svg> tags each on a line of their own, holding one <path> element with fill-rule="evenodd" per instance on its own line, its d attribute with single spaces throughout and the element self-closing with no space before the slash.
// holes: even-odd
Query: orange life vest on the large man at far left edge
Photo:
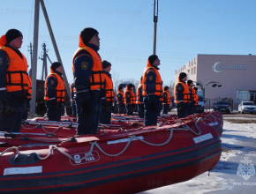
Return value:
<svg viewBox="0 0 256 194">
<path fill-rule="evenodd" d="M 15 92 L 28 90 L 29 76 L 27 74 L 26 57 L 21 53 L 23 59 L 11 48 L 0 47 L 9 56 L 9 66 L 6 71 L 6 90 Z"/>
</svg>

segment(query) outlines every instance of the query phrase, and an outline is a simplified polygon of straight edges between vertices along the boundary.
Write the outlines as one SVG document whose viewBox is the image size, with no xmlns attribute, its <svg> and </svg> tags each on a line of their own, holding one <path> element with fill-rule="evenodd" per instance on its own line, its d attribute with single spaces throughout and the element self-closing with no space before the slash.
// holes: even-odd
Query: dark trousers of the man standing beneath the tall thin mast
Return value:
<svg viewBox="0 0 256 194">
<path fill-rule="evenodd" d="M 157 114 L 159 108 L 159 98 L 154 98 L 153 101 L 149 102 L 147 96 L 143 97 L 144 101 L 144 126 L 156 125 Z M 152 104 L 154 104 L 154 109 L 152 109 Z"/>
</svg>

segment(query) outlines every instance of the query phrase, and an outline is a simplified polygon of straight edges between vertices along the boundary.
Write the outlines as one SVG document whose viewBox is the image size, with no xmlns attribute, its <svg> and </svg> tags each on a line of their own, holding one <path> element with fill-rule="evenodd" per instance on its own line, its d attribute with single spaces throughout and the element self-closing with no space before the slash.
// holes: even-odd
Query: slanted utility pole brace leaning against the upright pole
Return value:
<svg viewBox="0 0 256 194">
<path fill-rule="evenodd" d="M 44 4 L 43 0 L 40 0 L 40 2 L 41 2 L 41 9 L 42 9 L 42 11 L 43 11 L 43 15 L 44 15 L 46 24 L 47 24 L 47 26 L 48 26 L 50 39 L 51 39 L 51 41 L 52 41 L 53 48 L 54 48 L 55 53 L 56 53 L 57 61 L 58 61 L 59 63 L 62 63 L 62 60 L 61 60 L 61 57 L 60 57 L 58 48 L 57 48 L 57 46 L 56 46 L 56 40 L 55 40 L 55 37 L 54 37 L 53 31 L 52 31 L 52 28 L 51 28 L 50 23 L 49 23 L 49 17 L 48 17 L 46 8 L 45 8 L 45 4 Z M 63 64 L 63 63 L 62 63 L 62 64 Z M 65 84 L 65 87 L 66 87 L 66 92 L 68 93 L 69 99 L 71 99 L 71 91 L 69 90 L 69 83 L 68 83 L 68 79 L 67 79 L 66 74 L 65 74 L 65 71 L 64 71 L 64 66 L 63 66 L 63 71 L 62 71 L 62 73 L 63 73 L 63 78 L 64 78 L 64 84 Z"/>
</svg>

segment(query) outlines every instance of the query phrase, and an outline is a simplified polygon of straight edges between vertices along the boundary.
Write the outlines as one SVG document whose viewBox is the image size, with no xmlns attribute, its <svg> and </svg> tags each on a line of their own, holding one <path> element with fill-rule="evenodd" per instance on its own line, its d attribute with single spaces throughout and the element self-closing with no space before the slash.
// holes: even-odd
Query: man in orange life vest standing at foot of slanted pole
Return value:
<svg viewBox="0 0 256 194">
<path fill-rule="evenodd" d="M 62 78 L 62 64 L 55 62 L 50 66 L 50 73 L 44 82 L 44 101 L 49 121 L 59 122 L 62 103 L 64 103 L 65 86 Z"/>
</svg>

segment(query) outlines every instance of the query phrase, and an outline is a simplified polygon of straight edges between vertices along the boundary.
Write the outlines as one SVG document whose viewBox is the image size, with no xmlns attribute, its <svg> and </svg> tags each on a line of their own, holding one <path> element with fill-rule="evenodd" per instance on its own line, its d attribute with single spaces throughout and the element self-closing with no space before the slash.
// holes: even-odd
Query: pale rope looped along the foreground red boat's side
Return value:
<svg viewBox="0 0 256 194">
<path fill-rule="evenodd" d="M 194 123 L 194 125 L 195 125 L 196 129 L 198 130 L 198 132 L 193 131 L 192 128 L 190 128 L 190 127 L 189 127 L 188 125 L 186 125 L 186 124 L 181 125 L 182 128 L 169 128 L 169 129 L 166 129 L 165 131 L 170 131 L 170 135 L 169 135 L 169 138 L 168 138 L 165 142 L 163 142 L 162 144 L 150 143 L 150 142 L 147 142 L 147 141 L 145 141 L 145 140 L 143 140 L 143 139 L 140 139 L 139 137 L 136 137 L 135 135 L 129 136 L 130 139 L 129 139 L 128 143 L 126 144 L 126 146 L 124 147 L 124 149 L 123 149 L 120 153 L 116 153 L 116 154 L 106 153 L 106 152 L 102 149 L 102 147 L 98 145 L 97 141 L 94 141 L 94 142 L 89 142 L 89 143 L 92 145 L 91 148 L 90 148 L 90 151 L 89 151 L 83 158 L 81 158 L 81 159 L 75 159 L 75 158 L 73 158 L 72 155 L 70 155 L 70 154 L 68 154 L 68 153 L 65 153 L 63 150 L 61 150 L 61 149 L 60 149 L 59 147 L 57 147 L 56 145 L 50 145 L 50 146 L 49 146 L 49 154 L 48 154 L 46 157 L 42 158 L 41 155 L 38 154 L 38 153 L 36 153 L 36 155 L 37 155 L 37 157 L 38 157 L 40 160 L 46 160 L 46 159 L 48 159 L 49 156 L 53 153 L 53 148 L 55 148 L 58 152 L 63 153 L 63 154 L 64 154 L 65 156 L 67 156 L 69 159 L 74 160 L 74 161 L 79 161 L 79 160 L 85 160 L 85 159 L 87 159 L 87 157 L 89 157 L 89 156 L 91 155 L 91 153 L 93 152 L 94 146 L 97 146 L 98 149 L 99 149 L 102 153 L 104 153 L 105 155 L 110 156 L 110 157 L 115 157 L 115 156 L 118 156 L 118 155 L 120 155 L 120 154 L 122 154 L 122 153 L 124 153 L 124 152 L 126 151 L 126 149 L 131 145 L 132 139 L 137 139 L 137 140 L 139 140 L 139 141 L 141 141 L 141 142 L 143 142 L 143 143 L 145 143 L 145 144 L 147 144 L 147 145 L 149 145 L 149 146 L 164 146 L 164 145 L 168 144 L 169 141 L 170 141 L 170 139 L 173 137 L 173 131 L 191 131 L 191 132 L 192 132 L 193 134 L 195 134 L 195 135 L 201 135 L 200 127 L 198 126 L 198 123 L 200 123 L 201 121 L 202 121 L 202 118 L 200 117 L 200 118 Z M 13 147 L 10 147 L 10 148 L 4 150 L 3 153 L 0 153 L 0 156 L 2 156 L 4 153 L 6 153 L 6 152 L 8 152 L 9 150 L 12 150 L 12 149 L 16 149 L 17 153 L 19 153 L 19 148 L 13 146 Z M 21 154 L 21 153 L 19 153 L 19 154 Z"/>
</svg>

